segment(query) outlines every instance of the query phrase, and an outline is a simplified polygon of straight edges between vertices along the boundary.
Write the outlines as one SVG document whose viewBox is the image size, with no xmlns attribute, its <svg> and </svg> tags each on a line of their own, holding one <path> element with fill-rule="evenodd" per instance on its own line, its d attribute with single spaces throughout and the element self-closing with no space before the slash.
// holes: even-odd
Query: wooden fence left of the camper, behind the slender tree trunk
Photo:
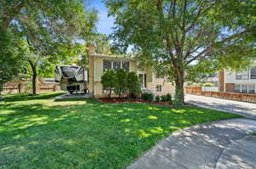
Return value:
<svg viewBox="0 0 256 169">
<path fill-rule="evenodd" d="M 60 92 L 61 87 L 59 83 L 46 83 L 44 80 L 40 80 L 37 92 L 44 93 L 44 92 Z M 28 80 L 24 81 L 14 81 L 14 82 L 7 82 L 3 85 L 2 91 L 0 94 L 4 93 L 31 93 L 32 86 L 31 82 Z"/>
</svg>

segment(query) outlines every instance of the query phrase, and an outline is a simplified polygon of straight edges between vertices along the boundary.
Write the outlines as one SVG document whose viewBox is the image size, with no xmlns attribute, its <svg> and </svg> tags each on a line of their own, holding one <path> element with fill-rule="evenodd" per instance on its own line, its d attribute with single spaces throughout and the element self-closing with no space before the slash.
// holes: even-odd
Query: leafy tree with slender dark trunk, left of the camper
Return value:
<svg viewBox="0 0 256 169">
<path fill-rule="evenodd" d="M 54 64 L 78 49 L 73 48 L 75 41 L 89 40 L 95 29 L 96 11 L 85 11 L 82 0 L 3 0 L 0 9 L 0 33 L 12 32 L 28 44 L 26 61 L 31 67 L 33 94 L 38 70 L 48 74 Z M 11 48 L 0 43 L 5 46 L 1 54 Z"/>
</svg>

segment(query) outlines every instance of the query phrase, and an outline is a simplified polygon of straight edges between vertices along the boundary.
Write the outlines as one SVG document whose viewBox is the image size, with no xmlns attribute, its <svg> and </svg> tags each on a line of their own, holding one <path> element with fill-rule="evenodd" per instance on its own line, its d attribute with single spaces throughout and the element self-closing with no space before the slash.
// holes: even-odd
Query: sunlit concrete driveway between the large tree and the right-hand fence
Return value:
<svg viewBox="0 0 256 169">
<path fill-rule="evenodd" d="M 229 99 L 218 99 L 197 95 L 185 95 L 185 102 L 213 110 L 222 110 L 234 114 L 244 115 L 256 120 L 256 104 L 239 102 Z"/>
</svg>

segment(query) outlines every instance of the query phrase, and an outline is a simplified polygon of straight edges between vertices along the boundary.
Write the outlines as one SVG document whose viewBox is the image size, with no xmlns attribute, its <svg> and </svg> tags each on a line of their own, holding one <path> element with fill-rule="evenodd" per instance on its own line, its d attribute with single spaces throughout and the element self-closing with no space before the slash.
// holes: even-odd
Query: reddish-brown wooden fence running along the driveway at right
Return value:
<svg viewBox="0 0 256 169">
<path fill-rule="evenodd" d="M 256 103 L 256 94 L 207 92 L 207 91 L 202 91 L 201 87 L 185 87 L 185 92 L 188 94 L 208 96 L 213 98 L 232 99 L 237 101 Z"/>
</svg>

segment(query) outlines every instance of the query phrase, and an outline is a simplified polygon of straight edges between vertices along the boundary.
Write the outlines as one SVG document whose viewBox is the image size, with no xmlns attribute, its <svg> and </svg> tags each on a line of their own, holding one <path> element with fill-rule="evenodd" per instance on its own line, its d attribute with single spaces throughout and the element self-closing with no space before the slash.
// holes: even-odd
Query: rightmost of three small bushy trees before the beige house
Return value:
<svg viewBox="0 0 256 169">
<path fill-rule="evenodd" d="M 136 72 L 129 72 L 127 75 L 127 89 L 128 96 L 131 97 L 133 94 L 137 94 L 141 92 L 141 84 L 138 79 Z"/>
</svg>

